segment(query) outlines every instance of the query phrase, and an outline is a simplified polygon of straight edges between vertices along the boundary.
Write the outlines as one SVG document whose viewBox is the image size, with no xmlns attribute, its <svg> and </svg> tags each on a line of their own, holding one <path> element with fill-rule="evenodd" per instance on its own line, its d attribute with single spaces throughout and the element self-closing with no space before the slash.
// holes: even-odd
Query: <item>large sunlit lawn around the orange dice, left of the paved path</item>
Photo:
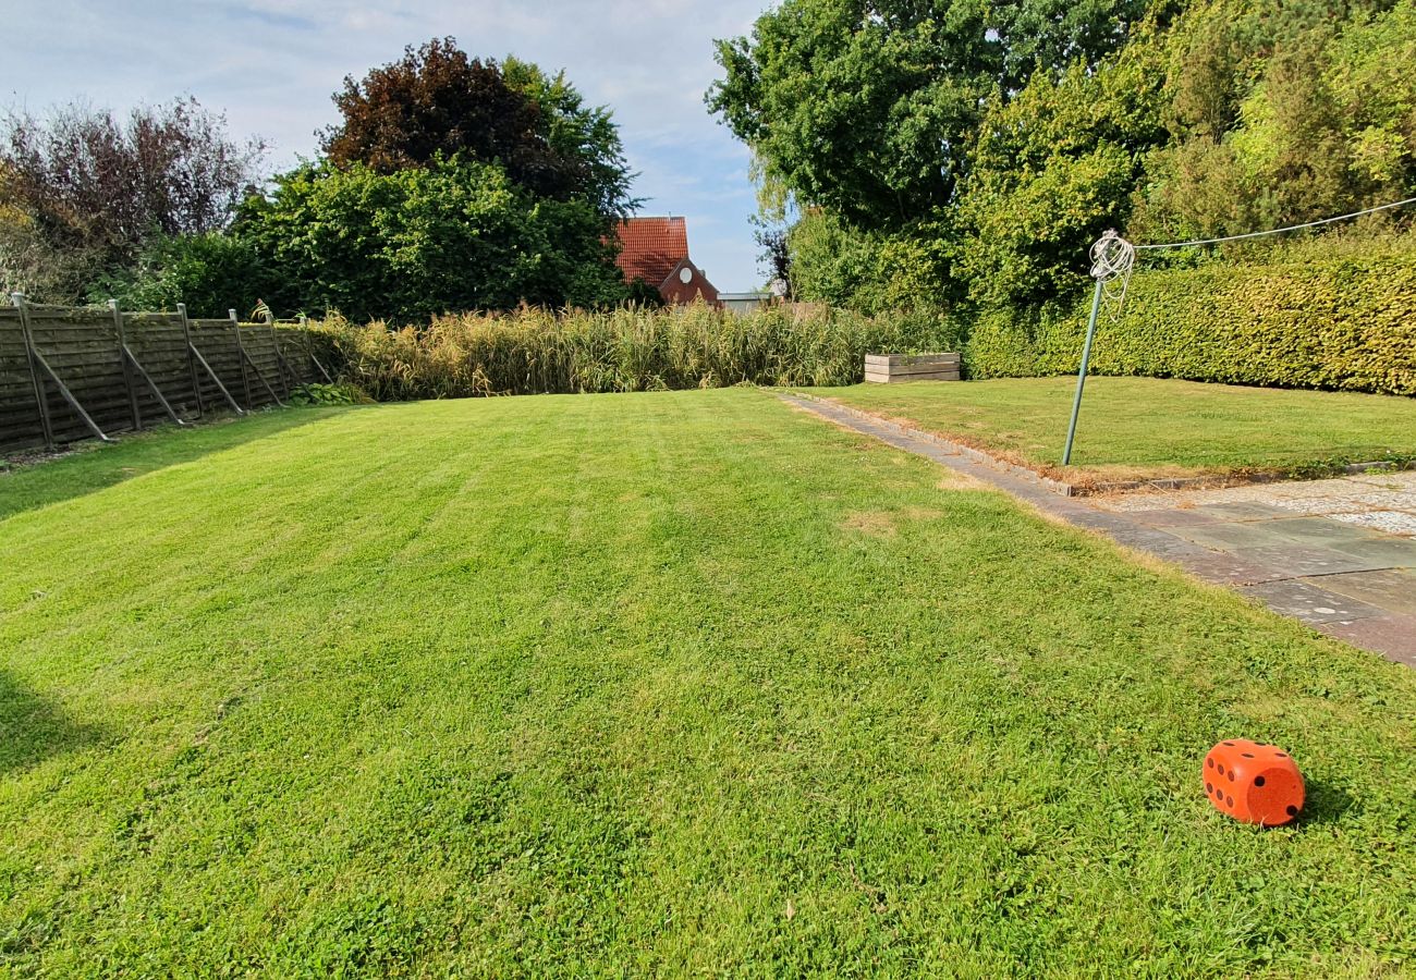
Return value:
<svg viewBox="0 0 1416 980">
<path fill-rule="evenodd" d="M 1416 673 L 762 392 L 292 409 L 0 503 L 0 974 L 1416 960 Z M 1211 809 L 1233 735 L 1301 824 Z"/>
</svg>

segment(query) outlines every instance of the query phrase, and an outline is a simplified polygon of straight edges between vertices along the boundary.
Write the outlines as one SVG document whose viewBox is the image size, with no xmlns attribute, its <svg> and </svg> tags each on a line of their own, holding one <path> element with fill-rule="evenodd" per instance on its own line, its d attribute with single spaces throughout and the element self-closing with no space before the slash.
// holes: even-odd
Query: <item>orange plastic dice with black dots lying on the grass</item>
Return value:
<svg viewBox="0 0 1416 980">
<path fill-rule="evenodd" d="M 1277 827 L 1303 809 L 1303 773 L 1277 745 L 1235 738 L 1205 756 L 1205 794 L 1235 820 Z"/>
</svg>

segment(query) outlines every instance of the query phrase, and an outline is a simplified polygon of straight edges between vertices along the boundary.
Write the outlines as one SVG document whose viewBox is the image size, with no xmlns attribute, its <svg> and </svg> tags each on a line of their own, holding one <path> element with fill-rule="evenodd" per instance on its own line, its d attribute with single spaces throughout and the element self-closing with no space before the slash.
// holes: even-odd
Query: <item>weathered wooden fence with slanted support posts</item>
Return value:
<svg viewBox="0 0 1416 980">
<path fill-rule="evenodd" d="M 55 449 L 153 422 L 285 404 L 330 381 L 329 346 L 300 324 L 176 313 L 0 306 L 0 453 Z"/>
</svg>

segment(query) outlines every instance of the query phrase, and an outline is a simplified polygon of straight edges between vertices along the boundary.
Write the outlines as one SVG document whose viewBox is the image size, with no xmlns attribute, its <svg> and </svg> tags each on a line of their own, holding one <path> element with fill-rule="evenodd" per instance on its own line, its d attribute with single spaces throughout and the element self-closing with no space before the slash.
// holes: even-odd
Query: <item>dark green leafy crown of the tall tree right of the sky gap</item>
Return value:
<svg viewBox="0 0 1416 980">
<path fill-rule="evenodd" d="M 978 123 L 1038 69 L 1095 64 L 1146 0 L 786 0 L 718 41 L 709 108 L 806 205 L 867 229 L 949 207 Z"/>
</svg>

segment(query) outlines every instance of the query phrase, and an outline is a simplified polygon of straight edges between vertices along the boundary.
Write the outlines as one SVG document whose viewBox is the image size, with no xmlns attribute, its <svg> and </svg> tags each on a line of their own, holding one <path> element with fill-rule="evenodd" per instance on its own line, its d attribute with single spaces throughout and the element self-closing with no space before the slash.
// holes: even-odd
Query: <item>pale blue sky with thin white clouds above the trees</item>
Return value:
<svg viewBox="0 0 1416 980">
<path fill-rule="evenodd" d="M 748 152 L 711 118 L 712 40 L 743 34 L 769 0 L 333 0 L 251 3 L 0 0 L 7 44 L 0 101 L 42 112 L 86 98 L 126 109 L 191 93 L 259 133 L 280 167 L 316 149 L 334 120 L 330 95 L 405 44 L 450 34 L 473 55 L 515 54 L 565 68 L 615 109 L 641 214 L 688 218 L 694 261 L 718 289 L 760 285 L 748 224 Z"/>
</svg>

